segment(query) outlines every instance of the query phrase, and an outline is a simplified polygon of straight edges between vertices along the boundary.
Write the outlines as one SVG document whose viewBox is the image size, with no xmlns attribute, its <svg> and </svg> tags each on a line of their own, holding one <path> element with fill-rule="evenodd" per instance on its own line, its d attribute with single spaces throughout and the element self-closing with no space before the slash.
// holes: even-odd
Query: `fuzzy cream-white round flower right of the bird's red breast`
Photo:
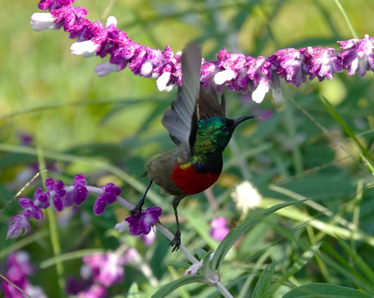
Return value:
<svg viewBox="0 0 374 298">
<path fill-rule="evenodd" d="M 241 210 L 244 215 L 249 209 L 254 209 L 262 199 L 261 194 L 249 181 L 238 184 L 231 197 L 236 202 L 236 208 Z"/>
</svg>

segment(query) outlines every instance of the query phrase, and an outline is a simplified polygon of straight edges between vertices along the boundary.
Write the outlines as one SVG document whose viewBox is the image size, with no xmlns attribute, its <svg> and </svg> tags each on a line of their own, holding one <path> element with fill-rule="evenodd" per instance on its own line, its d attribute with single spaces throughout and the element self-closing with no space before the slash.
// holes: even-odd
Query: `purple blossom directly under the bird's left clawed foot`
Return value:
<svg viewBox="0 0 374 298">
<path fill-rule="evenodd" d="M 147 235 L 151 231 L 153 224 L 159 221 L 159 217 L 162 214 L 160 207 L 148 207 L 142 210 L 140 216 L 131 215 L 125 219 L 129 223 L 129 234 L 130 235 Z"/>
</svg>

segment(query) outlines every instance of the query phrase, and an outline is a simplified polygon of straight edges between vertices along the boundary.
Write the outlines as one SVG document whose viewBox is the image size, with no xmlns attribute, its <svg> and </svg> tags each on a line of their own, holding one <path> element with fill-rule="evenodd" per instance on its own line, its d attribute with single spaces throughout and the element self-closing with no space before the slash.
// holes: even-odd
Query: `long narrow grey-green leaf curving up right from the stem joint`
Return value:
<svg viewBox="0 0 374 298">
<path fill-rule="evenodd" d="M 268 209 L 265 209 L 258 213 L 255 216 L 252 216 L 251 218 L 247 219 L 246 221 L 242 222 L 239 226 L 236 228 L 232 229 L 229 234 L 226 235 L 226 237 L 221 241 L 220 245 L 218 246 L 215 255 L 212 259 L 212 268 L 217 270 L 221 262 L 223 261 L 223 258 L 226 256 L 227 252 L 231 249 L 231 247 L 235 244 L 235 242 L 243 235 L 245 232 L 247 232 L 252 226 L 257 224 L 258 221 L 263 219 L 265 216 L 276 212 L 279 209 L 282 209 L 287 206 L 291 206 L 297 203 L 301 203 L 304 201 L 307 201 L 308 199 L 305 200 L 299 200 L 299 201 L 292 201 L 292 202 L 286 202 L 282 204 L 278 204 L 275 206 L 272 206 Z"/>
</svg>

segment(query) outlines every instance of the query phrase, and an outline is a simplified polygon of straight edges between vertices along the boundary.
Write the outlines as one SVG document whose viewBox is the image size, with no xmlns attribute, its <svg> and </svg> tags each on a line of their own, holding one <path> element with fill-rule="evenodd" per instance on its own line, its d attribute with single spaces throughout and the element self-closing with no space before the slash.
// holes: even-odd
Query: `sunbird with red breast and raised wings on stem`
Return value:
<svg viewBox="0 0 374 298">
<path fill-rule="evenodd" d="M 222 172 L 222 152 L 234 129 L 247 119 L 257 118 L 226 118 L 224 96 L 219 101 L 213 87 L 209 91 L 200 88 L 201 62 L 200 45 L 196 41 L 187 45 L 181 55 L 182 86 L 161 120 L 175 148 L 145 164 L 147 171 L 143 176 L 148 176 L 150 182 L 137 206 L 130 211 L 131 215 L 140 216 L 152 182 L 161 187 L 162 193 L 174 195 L 177 232 L 168 244 L 173 246 L 172 252 L 178 250 L 181 244 L 177 213 L 179 202 L 188 195 L 205 191 L 217 181 Z"/>
</svg>

